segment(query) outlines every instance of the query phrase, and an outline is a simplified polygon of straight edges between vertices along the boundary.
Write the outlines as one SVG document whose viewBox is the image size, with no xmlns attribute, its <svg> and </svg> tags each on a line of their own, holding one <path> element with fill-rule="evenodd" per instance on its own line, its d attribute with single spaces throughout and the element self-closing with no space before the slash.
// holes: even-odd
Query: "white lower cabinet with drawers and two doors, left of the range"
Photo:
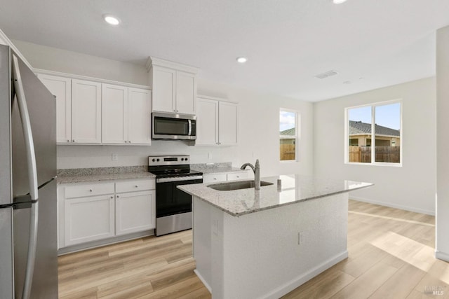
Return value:
<svg viewBox="0 0 449 299">
<path fill-rule="evenodd" d="M 156 227 L 154 179 L 58 186 L 58 248 Z"/>
</svg>

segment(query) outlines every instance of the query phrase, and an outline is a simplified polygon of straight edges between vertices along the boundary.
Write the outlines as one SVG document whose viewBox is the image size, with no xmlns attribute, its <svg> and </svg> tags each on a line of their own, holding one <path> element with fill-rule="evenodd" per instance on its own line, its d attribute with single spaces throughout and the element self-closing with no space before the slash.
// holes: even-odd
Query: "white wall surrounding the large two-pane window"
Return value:
<svg viewBox="0 0 449 299">
<path fill-rule="evenodd" d="M 344 108 L 403 100 L 403 167 L 344 164 Z M 425 214 L 435 213 L 435 78 L 370 90 L 316 103 L 314 173 L 375 183 L 352 198 Z M 449 124 L 449 123 L 448 123 Z M 445 126 L 446 128 L 449 125 Z"/>
</svg>

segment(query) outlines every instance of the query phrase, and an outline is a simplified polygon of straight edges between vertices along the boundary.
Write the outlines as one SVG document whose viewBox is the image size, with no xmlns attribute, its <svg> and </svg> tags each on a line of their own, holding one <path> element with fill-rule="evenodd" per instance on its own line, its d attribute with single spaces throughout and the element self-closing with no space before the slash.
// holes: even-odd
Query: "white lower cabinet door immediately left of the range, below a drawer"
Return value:
<svg viewBox="0 0 449 299">
<path fill-rule="evenodd" d="M 116 195 L 116 235 L 155 228 L 155 195 L 155 190 Z"/>
</svg>

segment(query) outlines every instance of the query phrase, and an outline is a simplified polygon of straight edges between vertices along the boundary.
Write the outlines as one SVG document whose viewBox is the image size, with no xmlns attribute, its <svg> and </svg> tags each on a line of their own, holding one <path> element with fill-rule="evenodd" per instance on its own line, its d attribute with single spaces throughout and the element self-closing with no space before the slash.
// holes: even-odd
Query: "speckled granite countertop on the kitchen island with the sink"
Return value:
<svg viewBox="0 0 449 299">
<path fill-rule="evenodd" d="M 281 179 L 281 189 L 278 190 L 277 180 Z M 273 209 L 286 204 L 313 200 L 328 195 L 346 193 L 352 190 L 373 186 L 372 183 L 345 181 L 335 179 L 318 179 L 313 176 L 300 174 L 270 176 L 261 181 L 273 183 L 262 186 L 260 190 L 254 188 L 219 191 L 208 188 L 206 183 L 177 186 L 190 195 L 212 204 L 232 216 Z"/>
</svg>

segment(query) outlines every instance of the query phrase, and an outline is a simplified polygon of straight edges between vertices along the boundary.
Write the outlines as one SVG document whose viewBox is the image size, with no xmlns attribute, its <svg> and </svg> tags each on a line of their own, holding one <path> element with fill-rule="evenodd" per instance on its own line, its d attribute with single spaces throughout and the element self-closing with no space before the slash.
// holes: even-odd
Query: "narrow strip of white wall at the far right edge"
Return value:
<svg viewBox="0 0 449 299">
<path fill-rule="evenodd" d="M 449 261 L 449 27 L 436 32 L 436 257 Z"/>
</svg>

